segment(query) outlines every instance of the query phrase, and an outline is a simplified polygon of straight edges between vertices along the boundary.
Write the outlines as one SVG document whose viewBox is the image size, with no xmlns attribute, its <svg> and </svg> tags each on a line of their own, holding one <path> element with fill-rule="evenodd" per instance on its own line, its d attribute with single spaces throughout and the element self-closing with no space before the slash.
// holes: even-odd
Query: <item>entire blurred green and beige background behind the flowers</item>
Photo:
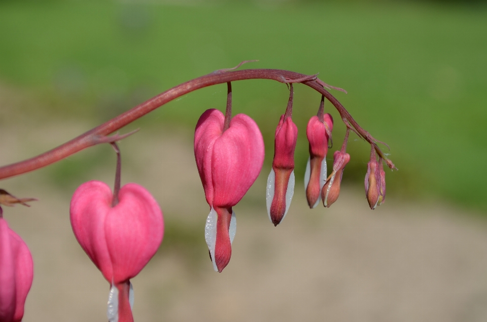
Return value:
<svg viewBox="0 0 487 322">
<path fill-rule="evenodd" d="M 484 1 L 0 0 L 0 163 L 45 152 L 172 86 L 250 59 L 259 62 L 242 68 L 320 73 L 348 91 L 332 94 L 387 142 L 399 168 L 387 171 L 388 202 L 368 209 L 370 150 L 352 134 L 348 189 L 337 203 L 307 209 L 298 179 L 286 221 L 271 227 L 263 191 L 289 91 L 269 80 L 234 82 L 234 114 L 256 120 L 266 159 L 236 207 L 232 261 L 213 274 L 191 141 L 204 110 L 224 109 L 226 85 L 183 96 L 121 130 L 141 128 L 121 142 L 122 183 L 148 188 L 166 223 L 159 256 L 136 277 L 144 299 L 136 315 L 187 321 L 183 311 L 192 308 L 193 320 L 321 321 L 323 308 L 332 321 L 484 321 Z M 295 173 L 302 178 L 306 123 L 321 97 L 303 85 L 294 90 Z M 330 103 L 325 109 L 335 118 L 331 164 L 344 126 Z M 107 283 L 77 245 L 67 213 L 82 182 L 111 185 L 114 159 L 110 147 L 97 146 L 2 182 L 15 195 L 41 200 L 8 209 L 36 263 L 26 314 L 103 316 Z M 218 303 L 231 314 L 216 316 L 223 312 Z"/>
</svg>

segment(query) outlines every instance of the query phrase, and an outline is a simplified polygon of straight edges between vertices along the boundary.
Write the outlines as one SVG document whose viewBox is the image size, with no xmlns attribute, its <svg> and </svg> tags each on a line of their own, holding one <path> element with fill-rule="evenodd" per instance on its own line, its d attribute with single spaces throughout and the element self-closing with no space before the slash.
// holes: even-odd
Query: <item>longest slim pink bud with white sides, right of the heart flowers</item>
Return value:
<svg viewBox="0 0 487 322">
<path fill-rule="evenodd" d="M 281 116 L 275 129 L 274 159 L 267 178 L 267 213 L 277 226 L 286 216 L 294 195 L 294 150 L 298 128 L 291 117 Z"/>
</svg>

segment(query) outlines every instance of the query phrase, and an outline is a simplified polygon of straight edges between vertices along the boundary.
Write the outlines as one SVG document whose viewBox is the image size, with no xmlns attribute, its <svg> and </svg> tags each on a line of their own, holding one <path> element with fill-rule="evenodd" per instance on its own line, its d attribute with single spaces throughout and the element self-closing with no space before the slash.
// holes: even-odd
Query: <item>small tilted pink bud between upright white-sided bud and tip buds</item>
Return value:
<svg viewBox="0 0 487 322">
<path fill-rule="evenodd" d="M 335 151 L 333 154 L 333 172 L 326 180 L 325 185 L 321 191 L 321 198 L 325 207 L 331 206 L 340 194 L 341 177 L 343 176 L 343 169 L 350 161 L 350 154 Z"/>
</svg>

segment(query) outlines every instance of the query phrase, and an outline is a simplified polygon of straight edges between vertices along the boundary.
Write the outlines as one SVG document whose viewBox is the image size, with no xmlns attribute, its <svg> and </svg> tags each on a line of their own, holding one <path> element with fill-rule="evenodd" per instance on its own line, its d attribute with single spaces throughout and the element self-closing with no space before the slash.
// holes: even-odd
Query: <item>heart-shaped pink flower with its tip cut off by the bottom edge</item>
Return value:
<svg viewBox="0 0 487 322">
<path fill-rule="evenodd" d="M 129 280 L 156 253 L 164 223 L 156 200 L 140 185 L 123 186 L 118 204 L 112 206 L 112 200 L 112 190 L 105 183 L 82 184 L 69 207 L 71 226 L 85 253 L 111 284 L 109 320 L 131 322 Z"/>
</svg>

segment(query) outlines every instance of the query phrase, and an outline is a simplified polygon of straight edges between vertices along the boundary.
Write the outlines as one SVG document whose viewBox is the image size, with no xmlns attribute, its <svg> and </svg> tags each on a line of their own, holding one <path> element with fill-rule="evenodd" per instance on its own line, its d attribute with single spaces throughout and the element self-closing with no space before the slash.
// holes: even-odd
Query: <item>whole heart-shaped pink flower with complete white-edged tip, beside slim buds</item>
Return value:
<svg viewBox="0 0 487 322">
<path fill-rule="evenodd" d="M 223 113 L 206 110 L 194 133 L 194 156 L 210 214 L 205 240 L 215 271 L 230 261 L 235 236 L 232 207 L 252 186 L 264 162 L 264 141 L 259 127 L 249 116 L 238 114 L 224 131 Z"/>
</svg>

